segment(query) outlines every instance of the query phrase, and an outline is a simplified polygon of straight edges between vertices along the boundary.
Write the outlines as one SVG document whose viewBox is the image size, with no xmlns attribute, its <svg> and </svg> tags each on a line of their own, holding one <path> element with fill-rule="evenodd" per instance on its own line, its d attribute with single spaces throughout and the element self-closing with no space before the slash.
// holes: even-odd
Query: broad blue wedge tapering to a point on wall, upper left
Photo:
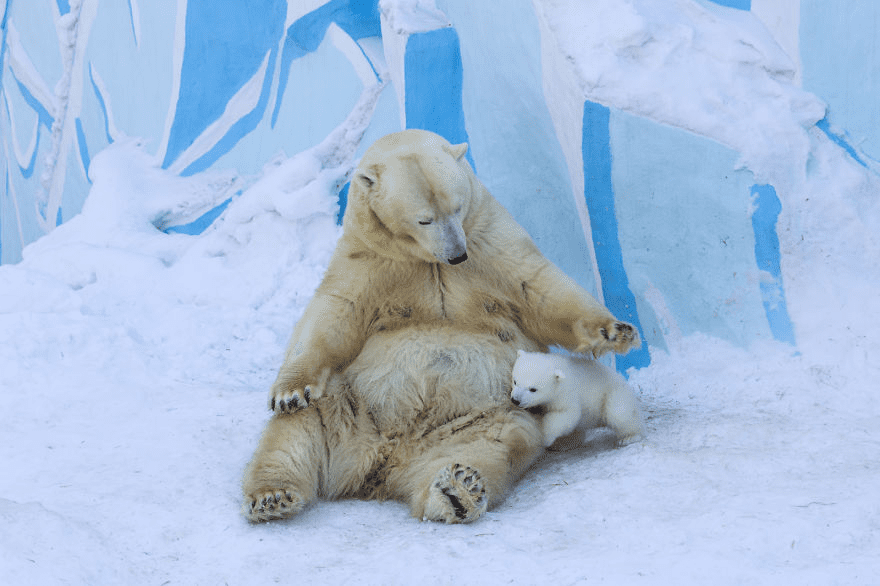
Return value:
<svg viewBox="0 0 880 586">
<path fill-rule="evenodd" d="M 189 0 L 180 95 L 163 167 L 171 165 L 223 114 L 229 100 L 253 77 L 270 50 L 274 55 L 286 14 L 285 0 Z M 263 98 L 260 103 L 265 108 L 267 100 Z M 230 139 L 223 148 L 228 150 L 229 143 L 237 140 Z M 219 158 L 216 153 L 211 156 L 212 160 Z"/>
</svg>

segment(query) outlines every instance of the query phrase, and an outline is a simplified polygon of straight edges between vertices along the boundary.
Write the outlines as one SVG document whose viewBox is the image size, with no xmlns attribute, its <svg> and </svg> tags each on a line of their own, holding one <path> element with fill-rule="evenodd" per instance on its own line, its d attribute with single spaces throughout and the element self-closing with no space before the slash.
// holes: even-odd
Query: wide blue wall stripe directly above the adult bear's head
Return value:
<svg viewBox="0 0 880 586">
<path fill-rule="evenodd" d="M 458 33 L 452 27 L 411 35 L 406 43 L 406 126 L 436 132 L 452 144 L 468 142 L 462 105 Z M 471 149 L 468 162 L 474 166 Z"/>
</svg>

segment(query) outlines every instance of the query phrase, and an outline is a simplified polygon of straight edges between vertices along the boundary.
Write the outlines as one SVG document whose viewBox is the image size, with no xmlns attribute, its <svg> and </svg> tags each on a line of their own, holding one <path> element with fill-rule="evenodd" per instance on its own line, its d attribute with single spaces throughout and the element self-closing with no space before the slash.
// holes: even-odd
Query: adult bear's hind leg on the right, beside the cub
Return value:
<svg viewBox="0 0 880 586">
<path fill-rule="evenodd" d="M 467 418 L 462 418 L 467 419 Z M 498 410 L 458 420 L 419 440 L 424 448 L 388 476 L 413 516 L 469 523 L 501 500 L 541 453 L 541 433 L 524 411 Z"/>
</svg>

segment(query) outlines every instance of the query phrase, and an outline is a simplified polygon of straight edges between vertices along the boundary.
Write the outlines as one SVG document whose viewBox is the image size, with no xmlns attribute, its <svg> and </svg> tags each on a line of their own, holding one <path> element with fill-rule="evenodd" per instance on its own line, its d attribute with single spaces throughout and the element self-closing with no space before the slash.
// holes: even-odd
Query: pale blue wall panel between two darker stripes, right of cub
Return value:
<svg viewBox="0 0 880 586">
<path fill-rule="evenodd" d="M 737 345 L 773 339 L 758 287 L 750 218 L 754 177 L 712 140 L 613 110 L 613 185 L 620 246 L 645 338 L 667 340 L 650 292 L 679 335 Z"/>
</svg>

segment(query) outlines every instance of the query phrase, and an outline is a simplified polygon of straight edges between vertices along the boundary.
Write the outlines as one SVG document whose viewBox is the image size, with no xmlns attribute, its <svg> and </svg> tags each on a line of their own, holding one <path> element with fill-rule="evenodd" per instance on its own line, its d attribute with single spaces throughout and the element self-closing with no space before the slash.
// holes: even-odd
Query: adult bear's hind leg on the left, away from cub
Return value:
<svg viewBox="0 0 880 586">
<path fill-rule="evenodd" d="M 317 409 L 269 420 L 242 481 L 242 513 L 252 522 L 298 513 L 318 495 L 327 448 Z"/>
</svg>

